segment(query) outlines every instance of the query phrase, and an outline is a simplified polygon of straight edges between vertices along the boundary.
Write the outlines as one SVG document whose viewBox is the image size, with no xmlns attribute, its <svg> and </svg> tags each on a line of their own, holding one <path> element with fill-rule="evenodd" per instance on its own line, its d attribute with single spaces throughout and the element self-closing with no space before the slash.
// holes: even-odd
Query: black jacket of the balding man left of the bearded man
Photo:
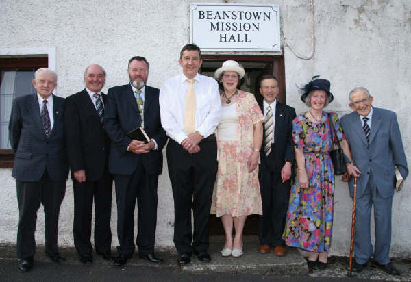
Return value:
<svg viewBox="0 0 411 282">
<path fill-rule="evenodd" d="M 106 105 L 107 95 L 101 94 Z M 64 125 L 72 177 L 73 172 L 86 170 L 87 181 L 99 180 L 108 170 L 110 138 L 86 89 L 66 98 Z"/>
</svg>

